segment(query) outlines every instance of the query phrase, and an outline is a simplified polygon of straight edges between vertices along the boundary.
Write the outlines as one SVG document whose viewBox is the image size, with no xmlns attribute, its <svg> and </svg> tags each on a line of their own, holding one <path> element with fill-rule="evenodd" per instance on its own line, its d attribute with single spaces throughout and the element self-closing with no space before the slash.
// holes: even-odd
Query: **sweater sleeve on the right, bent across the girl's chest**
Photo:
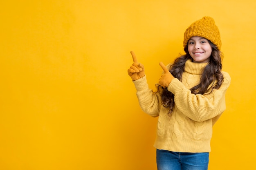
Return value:
<svg viewBox="0 0 256 170">
<path fill-rule="evenodd" d="M 178 110 L 194 121 L 205 121 L 216 117 L 226 109 L 225 93 L 230 84 L 230 76 L 222 72 L 224 81 L 219 89 L 214 89 L 209 95 L 194 95 L 177 78 L 168 86 L 168 91 L 174 94 L 174 102 Z"/>
</svg>

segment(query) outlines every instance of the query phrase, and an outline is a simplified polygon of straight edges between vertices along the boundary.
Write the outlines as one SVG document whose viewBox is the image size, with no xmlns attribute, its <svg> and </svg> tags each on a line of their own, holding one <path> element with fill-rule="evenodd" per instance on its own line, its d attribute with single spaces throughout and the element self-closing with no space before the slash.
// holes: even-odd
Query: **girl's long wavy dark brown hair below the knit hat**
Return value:
<svg viewBox="0 0 256 170">
<path fill-rule="evenodd" d="M 220 88 L 224 79 L 221 73 L 223 57 L 222 52 L 211 41 L 209 41 L 209 43 L 212 47 L 210 62 L 204 68 L 200 78 L 200 83 L 190 89 L 191 93 L 195 95 L 211 93 L 213 89 Z M 186 61 L 189 59 L 193 60 L 189 55 L 188 44 L 185 46 L 184 51 L 186 54 L 175 59 L 174 63 L 168 68 L 173 77 L 179 79 L 181 82 Z M 159 91 L 159 88 L 162 88 L 162 86 L 158 85 L 157 88 Z M 169 113 L 172 113 L 175 105 L 174 95 L 168 91 L 167 88 L 163 88 L 162 90 L 162 102 L 163 106 L 168 108 Z"/>
</svg>

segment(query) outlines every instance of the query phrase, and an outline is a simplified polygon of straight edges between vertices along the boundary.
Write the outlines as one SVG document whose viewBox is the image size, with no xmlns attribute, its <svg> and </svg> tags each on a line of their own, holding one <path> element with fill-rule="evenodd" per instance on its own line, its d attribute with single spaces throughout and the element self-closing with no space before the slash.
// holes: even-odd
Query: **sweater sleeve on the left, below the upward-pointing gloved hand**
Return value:
<svg viewBox="0 0 256 170">
<path fill-rule="evenodd" d="M 148 87 L 146 76 L 132 82 L 137 89 L 136 94 L 141 109 L 152 117 L 159 116 L 162 105 L 162 97 L 159 91 L 155 93 Z"/>
</svg>

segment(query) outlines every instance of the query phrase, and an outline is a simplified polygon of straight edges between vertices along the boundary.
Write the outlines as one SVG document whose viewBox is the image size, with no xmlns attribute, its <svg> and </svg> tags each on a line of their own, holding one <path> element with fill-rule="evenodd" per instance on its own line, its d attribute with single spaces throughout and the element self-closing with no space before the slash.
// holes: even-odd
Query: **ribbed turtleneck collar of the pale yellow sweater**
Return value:
<svg viewBox="0 0 256 170">
<path fill-rule="evenodd" d="M 191 59 L 187 60 L 185 63 L 185 71 L 190 74 L 202 74 L 204 67 L 207 66 L 209 62 L 206 63 L 195 63 Z"/>
</svg>

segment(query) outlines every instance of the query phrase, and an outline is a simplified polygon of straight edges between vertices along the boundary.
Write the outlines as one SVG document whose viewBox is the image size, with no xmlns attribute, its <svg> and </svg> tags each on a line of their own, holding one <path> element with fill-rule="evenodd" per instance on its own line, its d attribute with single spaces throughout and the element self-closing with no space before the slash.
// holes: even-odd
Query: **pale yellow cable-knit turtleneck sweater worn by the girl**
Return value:
<svg viewBox="0 0 256 170">
<path fill-rule="evenodd" d="M 189 90 L 200 82 L 204 67 L 208 63 L 188 60 L 182 75 L 171 81 L 168 91 L 174 94 L 173 112 L 162 106 L 161 92 L 153 93 L 148 87 L 146 76 L 133 81 L 142 110 L 158 118 L 155 148 L 173 152 L 210 152 L 212 126 L 225 110 L 225 93 L 230 76 L 222 72 L 224 82 L 210 94 L 194 95 Z"/>
</svg>

